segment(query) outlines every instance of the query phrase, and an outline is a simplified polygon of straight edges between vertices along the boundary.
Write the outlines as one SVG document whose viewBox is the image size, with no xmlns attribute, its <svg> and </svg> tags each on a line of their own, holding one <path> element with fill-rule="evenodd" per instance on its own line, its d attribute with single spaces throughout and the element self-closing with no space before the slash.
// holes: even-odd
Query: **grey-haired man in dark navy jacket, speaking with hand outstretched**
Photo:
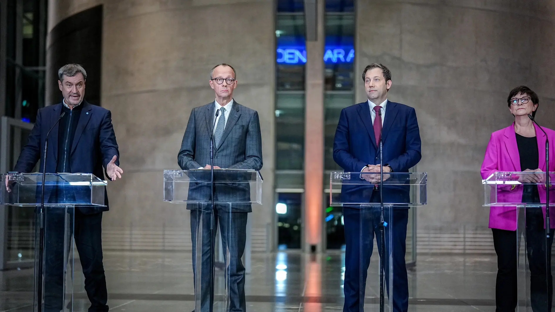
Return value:
<svg viewBox="0 0 555 312">
<path fill-rule="evenodd" d="M 47 173 L 92 173 L 99 178 L 104 173 L 110 180 L 122 178 L 119 168 L 118 144 L 115 140 L 112 117 L 108 109 L 91 105 L 84 100 L 87 73 L 78 64 L 68 64 L 58 71 L 58 86 L 63 101 L 41 108 L 37 112 L 27 145 L 17 160 L 16 172 L 28 173 L 41 160 L 48 130 L 63 114 L 48 137 Z M 10 187 L 6 180 L 8 192 Z M 90 192 L 90 190 L 87 191 Z M 105 192 L 105 191 L 104 191 Z M 45 192 L 46 205 L 59 202 L 60 197 L 71 196 L 79 200 L 78 192 L 51 188 Z M 72 230 L 75 246 L 85 276 L 85 291 L 90 300 L 89 312 L 108 311 L 108 291 L 102 263 L 102 212 L 106 207 L 75 207 Z M 70 212 L 73 213 L 73 212 Z M 63 309 L 65 263 L 64 227 L 67 215 L 64 209 L 46 207 L 44 251 L 44 311 Z M 68 248 L 66 246 L 66 248 Z"/>
</svg>

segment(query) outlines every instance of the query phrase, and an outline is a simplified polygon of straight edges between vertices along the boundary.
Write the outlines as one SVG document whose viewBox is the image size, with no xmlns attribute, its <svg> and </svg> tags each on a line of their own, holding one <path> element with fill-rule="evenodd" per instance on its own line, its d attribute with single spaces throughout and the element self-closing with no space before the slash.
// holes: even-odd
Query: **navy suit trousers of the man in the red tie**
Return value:
<svg viewBox="0 0 555 312">
<path fill-rule="evenodd" d="M 364 311 L 366 277 L 376 236 L 380 258 L 385 260 L 386 289 L 393 311 L 408 310 L 408 278 L 405 263 L 408 209 L 386 210 L 392 213 L 392 224 L 385 227 L 386 254 L 392 254 L 393 285 L 389 283 L 389 256 L 381 254 L 380 207 L 343 208 L 345 224 L 344 312 Z M 388 222 L 387 217 L 385 218 Z M 389 240 L 391 239 L 391 246 Z M 379 279 L 377 279 L 379 283 Z M 393 294 L 390 293 L 390 288 Z M 391 298 L 392 297 L 392 298 Z"/>
</svg>

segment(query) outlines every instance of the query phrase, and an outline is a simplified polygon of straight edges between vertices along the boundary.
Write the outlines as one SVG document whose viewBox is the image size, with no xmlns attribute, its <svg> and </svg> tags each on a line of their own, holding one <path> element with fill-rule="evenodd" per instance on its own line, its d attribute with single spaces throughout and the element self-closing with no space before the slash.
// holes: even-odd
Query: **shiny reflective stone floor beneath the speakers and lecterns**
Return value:
<svg viewBox="0 0 555 312">
<path fill-rule="evenodd" d="M 74 265 L 74 311 L 87 311 L 83 277 Z M 378 311 L 378 261 L 373 259 L 365 311 Z M 190 254 L 105 251 L 110 310 L 194 309 Z M 344 259 L 290 252 L 253 254 L 246 276 L 248 311 L 342 311 Z M 0 312 L 32 311 L 32 269 L 0 272 Z M 216 273 L 218 274 L 218 273 Z M 418 255 L 409 271 L 409 311 L 495 311 L 495 255 Z M 218 293 L 223 293 L 218 277 Z M 387 297 L 386 297 L 387 298 Z M 214 311 L 219 303 L 216 303 Z M 223 311 L 223 310 L 222 310 Z"/>
</svg>

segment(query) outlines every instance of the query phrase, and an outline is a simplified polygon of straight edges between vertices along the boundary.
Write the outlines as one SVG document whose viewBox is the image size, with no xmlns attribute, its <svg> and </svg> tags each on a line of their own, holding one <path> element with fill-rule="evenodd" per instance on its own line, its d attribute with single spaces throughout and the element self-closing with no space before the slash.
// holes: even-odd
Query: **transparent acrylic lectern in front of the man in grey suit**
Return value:
<svg viewBox="0 0 555 312">
<path fill-rule="evenodd" d="M 247 214 L 262 204 L 262 178 L 255 170 L 214 170 L 214 208 L 209 169 L 164 170 L 164 201 L 191 211 L 195 312 L 233 311 L 244 305 Z M 223 263 L 215 261 L 220 230 Z M 243 307 L 244 308 L 244 307 Z"/>
</svg>

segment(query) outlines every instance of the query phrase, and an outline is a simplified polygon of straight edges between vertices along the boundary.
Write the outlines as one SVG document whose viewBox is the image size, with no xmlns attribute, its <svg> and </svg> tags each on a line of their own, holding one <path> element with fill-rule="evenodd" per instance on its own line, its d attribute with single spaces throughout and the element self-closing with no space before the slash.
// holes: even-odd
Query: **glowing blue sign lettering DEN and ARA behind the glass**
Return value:
<svg viewBox="0 0 555 312">
<path fill-rule="evenodd" d="M 355 49 L 352 46 L 327 46 L 324 52 L 325 63 L 352 63 Z M 306 63 L 305 47 L 278 47 L 276 62 L 286 64 Z"/>
</svg>

